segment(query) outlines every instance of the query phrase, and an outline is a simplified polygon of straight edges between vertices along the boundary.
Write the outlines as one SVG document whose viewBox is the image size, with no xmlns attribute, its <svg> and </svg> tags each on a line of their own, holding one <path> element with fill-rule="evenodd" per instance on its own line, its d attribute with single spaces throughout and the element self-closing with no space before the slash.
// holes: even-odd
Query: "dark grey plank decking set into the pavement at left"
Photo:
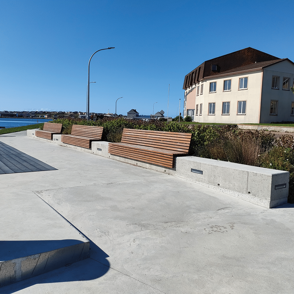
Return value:
<svg viewBox="0 0 294 294">
<path fill-rule="evenodd" d="M 57 168 L 0 141 L 0 174 L 54 170 L 57 170 Z"/>
</svg>

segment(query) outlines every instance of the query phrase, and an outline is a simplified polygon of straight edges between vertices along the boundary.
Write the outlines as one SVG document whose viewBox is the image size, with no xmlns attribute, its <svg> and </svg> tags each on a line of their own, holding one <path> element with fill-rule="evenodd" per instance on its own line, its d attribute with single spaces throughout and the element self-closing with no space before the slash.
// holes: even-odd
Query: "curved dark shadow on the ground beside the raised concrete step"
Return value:
<svg viewBox="0 0 294 294">
<path fill-rule="evenodd" d="M 53 245 L 53 243 L 54 242 L 51 244 L 49 243 L 49 245 Z M 84 281 L 100 278 L 101 276 L 105 275 L 110 268 L 110 263 L 106 259 L 109 257 L 109 255 L 107 255 L 91 240 L 90 253 L 90 258 L 86 258 L 84 260 L 72 263 L 56 270 L 52 270 L 48 273 L 44 273 L 33 278 L 1 287 L 0 294 L 14 293 L 36 284 Z"/>
</svg>

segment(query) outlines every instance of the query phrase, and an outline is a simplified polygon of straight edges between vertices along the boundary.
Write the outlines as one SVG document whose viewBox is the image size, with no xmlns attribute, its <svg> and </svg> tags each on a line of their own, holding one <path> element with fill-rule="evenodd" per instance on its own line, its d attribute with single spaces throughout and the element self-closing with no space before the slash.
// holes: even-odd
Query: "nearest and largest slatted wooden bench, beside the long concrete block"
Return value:
<svg viewBox="0 0 294 294">
<path fill-rule="evenodd" d="M 173 168 L 175 156 L 187 155 L 191 135 L 125 128 L 121 143 L 109 143 L 108 153 Z"/>
</svg>

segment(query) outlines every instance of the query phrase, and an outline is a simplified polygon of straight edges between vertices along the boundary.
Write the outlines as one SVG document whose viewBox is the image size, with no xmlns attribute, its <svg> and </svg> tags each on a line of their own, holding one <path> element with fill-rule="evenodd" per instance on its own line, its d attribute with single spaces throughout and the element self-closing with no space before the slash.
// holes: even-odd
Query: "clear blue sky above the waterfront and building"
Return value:
<svg viewBox="0 0 294 294">
<path fill-rule="evenodd" d="M 293 1 L 2 1 L 0 111 L 183 111 L 183 81 L 246 47 L 294 61 Z M 168 84 L 170 84 L 168 105 Z"/>
</svg>

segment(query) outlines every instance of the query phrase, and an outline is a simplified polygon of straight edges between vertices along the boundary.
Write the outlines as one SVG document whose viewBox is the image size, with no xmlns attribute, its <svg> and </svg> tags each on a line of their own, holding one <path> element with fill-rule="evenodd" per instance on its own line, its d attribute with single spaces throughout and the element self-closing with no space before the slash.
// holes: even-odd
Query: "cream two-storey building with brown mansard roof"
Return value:
<svg viewBox="0 0 294 294">
<path fill-rule="evenodd" d="M 245 48 L 207 60 L 185 76 L 184 116 L 215 123 L 294 120 L 294 63 Z"/>
</svg>

